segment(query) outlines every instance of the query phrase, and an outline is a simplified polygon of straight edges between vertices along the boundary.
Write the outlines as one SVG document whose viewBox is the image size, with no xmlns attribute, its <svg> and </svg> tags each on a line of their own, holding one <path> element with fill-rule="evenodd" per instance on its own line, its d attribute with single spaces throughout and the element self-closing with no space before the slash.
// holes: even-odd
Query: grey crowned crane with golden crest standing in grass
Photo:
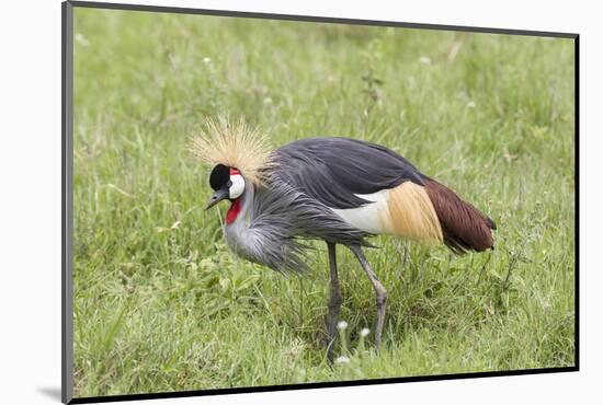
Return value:
<svg viewBox="0 0 603 405">
<path fill-rule="evenodd" d="M 330 361 L 342 301 L 335 245 L 353 252 L 375 289 L 376 350 L 387 293 L 363 253 L 371 246 L 367 238 L 390 234 L 444 243 L 457 254 L 493 248 L 490 218 L 385 147 L 312 138 L 270 151 L 259 132 L 226 119 L 208 120 L 192 146 L 213 166 L 215 194 L 206 209 L 230 201 L 224 229 L 234 253 L 278 271 L 298 271 L 307 269 L 304 240 L 327 243 Z"/>
</svg>

